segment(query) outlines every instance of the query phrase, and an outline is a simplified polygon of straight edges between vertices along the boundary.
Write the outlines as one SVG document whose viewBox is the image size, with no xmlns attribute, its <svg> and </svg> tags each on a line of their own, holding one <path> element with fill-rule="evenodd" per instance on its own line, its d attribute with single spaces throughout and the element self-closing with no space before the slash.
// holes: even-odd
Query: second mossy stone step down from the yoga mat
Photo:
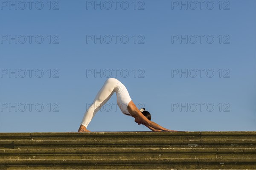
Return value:
<svg viewBox="0 0 256 170">
<path fill-rule="evenodd" d="M 17 147 L 255 147 L 256 139 L 188 140 L 1 140 L 0 148 Z"/>
</svg>

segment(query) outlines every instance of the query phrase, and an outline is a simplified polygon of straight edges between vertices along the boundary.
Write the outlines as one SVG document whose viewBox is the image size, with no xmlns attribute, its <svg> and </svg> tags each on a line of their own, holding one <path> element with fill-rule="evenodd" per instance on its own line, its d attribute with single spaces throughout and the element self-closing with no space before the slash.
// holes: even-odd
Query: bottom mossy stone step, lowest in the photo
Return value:
<svg viewBox="0 0 256 170">
<path fill-rule="evenodd" d="M 0 160 L 3 167 L 14 166 L 52 166 L 55 167 L 79 167 L 102 168 L 234 168 L 234 169 L 253 169 L 255 168 L 256 158 L 247 159 L 213 159 L 213 158 L 176 158 L 176 159 L 16 159 Z M 75 165 L 75 166 L 74 166 Z"/>
</svg>

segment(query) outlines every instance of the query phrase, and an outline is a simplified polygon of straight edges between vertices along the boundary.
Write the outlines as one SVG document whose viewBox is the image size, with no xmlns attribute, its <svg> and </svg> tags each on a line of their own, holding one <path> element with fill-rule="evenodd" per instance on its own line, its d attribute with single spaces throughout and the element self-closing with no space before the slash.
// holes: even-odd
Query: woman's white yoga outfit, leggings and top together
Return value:
<svg viewBox="0 0 256 170">
<path fill-rule="evenodd" d="M 127 110 L 127 105 L 131 102 L 131 97 L 127 89 L 118 79 L 109 78 L 105 81 L 104 85 L 96 95 L 93 103 L 84 113 L 81 125 L 87 127 L 97 111 L 99 111 L 100 108 L 111 98 L 114 92 L 116 92 L 117 105 L 121 109 L 122 113 L 131 116 Z"/>
</svg>

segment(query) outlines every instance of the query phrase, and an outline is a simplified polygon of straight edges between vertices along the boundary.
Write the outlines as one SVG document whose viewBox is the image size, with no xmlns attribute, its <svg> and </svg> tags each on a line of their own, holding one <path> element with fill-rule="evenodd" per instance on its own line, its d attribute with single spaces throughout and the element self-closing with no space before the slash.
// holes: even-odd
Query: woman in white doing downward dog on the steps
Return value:
<svg viewBox="0 0 256 170">
<path fill-rule="evenodd" d="M 105 81 L 104 85 L 96 95 L 92 105 L 90 105 L 90 107 L 84 113 L 84 117 L 78 132 L 90 132 L 87 130 L 88 124 L 93 119 L 96 112 L 99 111 L 99 109 L 110 99 L 114 92 L 116 92 L 117 105 L 121 109 L 122 113 L 134 117 L 134 122 L 136 122 L 138 125 L 143 124 L 152 131 L 176 131 L 166 129 L 157 123 L 152 122 L 150 113 L 145 111 L 145 108 L 141 108 L 139 110 L 136 107 L 125 86 L 119 80 L 109 78 Z"/>
</svg>

